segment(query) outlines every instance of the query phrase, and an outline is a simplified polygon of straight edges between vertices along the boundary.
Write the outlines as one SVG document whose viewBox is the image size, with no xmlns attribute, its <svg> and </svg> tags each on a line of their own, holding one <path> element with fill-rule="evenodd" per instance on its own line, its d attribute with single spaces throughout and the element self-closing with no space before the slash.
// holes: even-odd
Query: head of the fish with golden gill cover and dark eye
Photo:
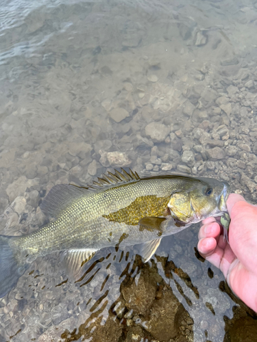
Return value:
<svg viewBox="0 0 257 342">
<path fill-rule="evenodd" d="M 226 200 L 230 185 L 216 179 L 191 179 L 191 183 L 171 194 L 168 207 L 178 226 L 200 222 L 228 212 Z"/>
</svg>

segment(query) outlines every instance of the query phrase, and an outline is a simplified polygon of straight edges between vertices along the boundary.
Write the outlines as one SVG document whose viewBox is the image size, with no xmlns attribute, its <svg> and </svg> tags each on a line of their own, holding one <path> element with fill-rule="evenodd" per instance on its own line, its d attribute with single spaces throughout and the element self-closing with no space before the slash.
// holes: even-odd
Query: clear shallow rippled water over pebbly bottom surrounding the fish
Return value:
<svg viewBox="0 0 257 342">
<path fill-rule="evenodd" d="M 121 166 L 256 201 L 256 1 L 2 1 L 0 17 L 1 233 L 43 224 L 53 185 Z M 0 300 L 0 341 L 230 341 L 247 314 L 198 231 L 147 265 L 101 250 L 75 283 L 38 258 Z"/>
</svg>

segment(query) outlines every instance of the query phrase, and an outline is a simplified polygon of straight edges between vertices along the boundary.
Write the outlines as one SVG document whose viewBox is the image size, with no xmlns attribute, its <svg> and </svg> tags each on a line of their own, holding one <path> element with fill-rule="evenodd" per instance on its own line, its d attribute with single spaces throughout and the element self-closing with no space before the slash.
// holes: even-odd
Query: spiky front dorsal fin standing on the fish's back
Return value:
<svg viewBox="0 0 257 342">
<path fill-rule="evenodd" d="M 123 168 L 121 168 L 121 172 L 114 170 L 114 173 L 108 171 L 108 174 L 103 174 L 101 178 L 98 177 L 98 181 L 93 181 L 92 185 L 87 185 L 86 187 L 82 187 L 84 189 L 103 189 L 103 187 L 110 187 L 110 185 L 116 185 L 120 183 L 129 183 L 132 181 L 139 181 L 140 177 L 136 172 L 133 172 L 131 169 L 129 172 L 126 172 Z"/>
</svg>

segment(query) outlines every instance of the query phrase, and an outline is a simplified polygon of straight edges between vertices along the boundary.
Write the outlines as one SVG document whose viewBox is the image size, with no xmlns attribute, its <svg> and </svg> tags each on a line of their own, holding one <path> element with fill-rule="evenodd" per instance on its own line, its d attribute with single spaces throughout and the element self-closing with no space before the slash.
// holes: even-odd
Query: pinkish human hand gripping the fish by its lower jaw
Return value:
<svg viewBox="0 0 257 342">
<path fill-rule="evenodd" d="M 215 218 L 203 220 L 198 250 L 202 257 L 221 269 L 232 291 L 257 312 L 257 207 L 243 196 L 230 194 L 229 241 L 224 241 Z"/>
</svg>

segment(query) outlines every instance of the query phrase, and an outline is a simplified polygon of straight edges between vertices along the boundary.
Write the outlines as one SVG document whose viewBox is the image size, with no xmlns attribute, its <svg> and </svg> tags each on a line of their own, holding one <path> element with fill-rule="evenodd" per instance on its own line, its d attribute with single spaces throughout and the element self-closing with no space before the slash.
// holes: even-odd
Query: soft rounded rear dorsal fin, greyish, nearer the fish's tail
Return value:
<svg viewBox="0 0 257 342">
<path fill-rule="evenodd" d="M 47 197 L 40 204 L 40 209 L 47 217 L 57 218 L 73 200 L 86 196 L 86 194 L 88 194 L 88 189 L 84 187 L 58 184 L 51 188 Z"/>
</svg>

